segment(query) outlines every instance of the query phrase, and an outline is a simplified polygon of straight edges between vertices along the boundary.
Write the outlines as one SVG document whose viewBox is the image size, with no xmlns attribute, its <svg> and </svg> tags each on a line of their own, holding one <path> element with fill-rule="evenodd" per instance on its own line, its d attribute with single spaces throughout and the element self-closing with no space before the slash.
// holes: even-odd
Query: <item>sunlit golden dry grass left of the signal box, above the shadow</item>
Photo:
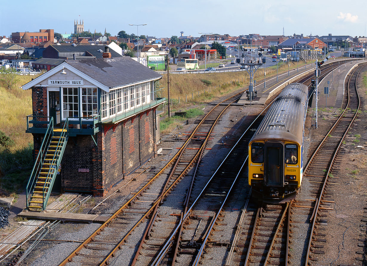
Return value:
<svg viewBox="0 0 367 266">
<path fill-rule="evenodd" d="M 17 84 L 10 90 L 0 83 L 0 130 L 10 136 L 15 145 L 11 151 L 27 147 L 33 138 L 26 130 L 26 116 L 32 114 L 31 90 L 19 88 L 35 76 L 18 76 Z"/>
</svg>

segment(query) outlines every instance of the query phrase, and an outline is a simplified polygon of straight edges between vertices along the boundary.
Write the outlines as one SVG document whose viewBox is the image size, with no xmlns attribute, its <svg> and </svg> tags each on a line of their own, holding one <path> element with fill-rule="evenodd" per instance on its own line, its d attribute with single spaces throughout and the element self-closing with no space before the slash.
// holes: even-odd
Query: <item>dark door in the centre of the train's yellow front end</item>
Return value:
<svg viewBox="0 0 367 266">
<path fill-rule="evenodd" d="M 283 143 L 267 142 L 266 148 L 266 183 L 271 186 L 283 186 Z"/>
</svg>

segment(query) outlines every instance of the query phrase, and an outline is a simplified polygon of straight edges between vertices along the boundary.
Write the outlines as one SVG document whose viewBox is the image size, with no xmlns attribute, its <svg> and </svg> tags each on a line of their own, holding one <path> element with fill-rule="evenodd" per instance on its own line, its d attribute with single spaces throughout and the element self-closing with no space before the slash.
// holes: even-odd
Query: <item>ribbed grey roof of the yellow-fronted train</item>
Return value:
<svg viewBox="0 0 367 266">
<path fill-rule="evenodd" d="M 250 142 L 272 139 L 302 143 L 307 100 L 307 86 L 300 83 L 287 85 L 266 113 Z"/>
</svg>

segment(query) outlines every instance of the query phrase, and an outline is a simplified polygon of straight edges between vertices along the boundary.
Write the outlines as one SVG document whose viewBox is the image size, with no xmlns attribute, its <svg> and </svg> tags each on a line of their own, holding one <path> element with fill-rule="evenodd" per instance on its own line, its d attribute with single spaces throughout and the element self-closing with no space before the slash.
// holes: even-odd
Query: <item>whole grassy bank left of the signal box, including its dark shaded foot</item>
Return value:
<svg viewBox="0 0 367 266">
<path fill-rule="evenodd" d="M 4 194 L 24 188 L 33 166 L 33 137 L 25 133 L 26 116 L 32 114 L 32 94 L 19 88 L 31 76 L 17 78 L 10 90 L 0 83 L 0 130 L 10 138 L 7 144 L 0 144 L 0 187 Z"/>
</svg>

